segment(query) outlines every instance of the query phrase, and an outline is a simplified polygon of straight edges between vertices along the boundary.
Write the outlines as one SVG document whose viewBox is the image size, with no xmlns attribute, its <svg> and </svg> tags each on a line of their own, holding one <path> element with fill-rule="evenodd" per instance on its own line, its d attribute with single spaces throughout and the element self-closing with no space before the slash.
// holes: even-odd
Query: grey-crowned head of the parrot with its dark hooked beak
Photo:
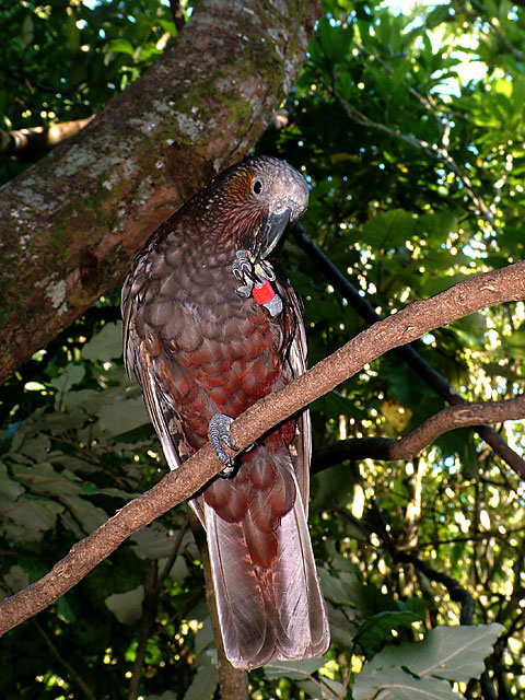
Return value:
<svg viewBox="0 0 525 700">
<path fill-rule="evenodd" d="M 202 218 L 218 236 L 249 250 L 259 261 L 306 209 L 308 187 L 284 161 L 257 155 L 220 173 L 197 197 L 201 197 Z"/>
</svg>

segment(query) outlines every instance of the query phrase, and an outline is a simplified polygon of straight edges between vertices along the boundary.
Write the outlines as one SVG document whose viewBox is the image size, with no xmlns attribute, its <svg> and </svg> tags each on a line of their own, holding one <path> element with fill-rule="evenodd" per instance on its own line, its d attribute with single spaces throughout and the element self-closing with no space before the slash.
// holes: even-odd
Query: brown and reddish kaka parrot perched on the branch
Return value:
<svg viewBox="0 0 525 700">
<path fill-rule="evenodd" d="M 301 304 L 268 256 L 306 208 L 303 177 L 249 156 L 150 237 L 122 289 L 125 360 L 170 467 L 208 440 L 223 472 L 190 501 L 207 532 L 224 650 L 237 668 L 323 654 L 328 620 L 306 523 L 310 417 L 233 459 L 232 419 L 305 371 Z"/>
</svg>

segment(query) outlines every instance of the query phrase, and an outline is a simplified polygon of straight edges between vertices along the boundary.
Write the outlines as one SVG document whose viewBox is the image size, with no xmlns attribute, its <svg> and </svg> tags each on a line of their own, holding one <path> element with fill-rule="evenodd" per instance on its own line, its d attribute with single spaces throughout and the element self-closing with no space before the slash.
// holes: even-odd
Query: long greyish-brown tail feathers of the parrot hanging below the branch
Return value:
<svg viewBox="0 0 525 700">
<path fill-rule="evenodd" d="M 323 654 L 329 644 L 325 603 L 299 488 L 293 508 L 271 533 L 257 533 L 249 512 L 229 523 L 203 503 L 213 586 L 226 657 L 249 670 L 272 660 Z M 255 533 L 255 534 L 254 534 Z M 276 557 L 254 563 L 254 537 L 275 539 Z M 273 548 L 273 547 L 271 547 Z"/>
</svg>

